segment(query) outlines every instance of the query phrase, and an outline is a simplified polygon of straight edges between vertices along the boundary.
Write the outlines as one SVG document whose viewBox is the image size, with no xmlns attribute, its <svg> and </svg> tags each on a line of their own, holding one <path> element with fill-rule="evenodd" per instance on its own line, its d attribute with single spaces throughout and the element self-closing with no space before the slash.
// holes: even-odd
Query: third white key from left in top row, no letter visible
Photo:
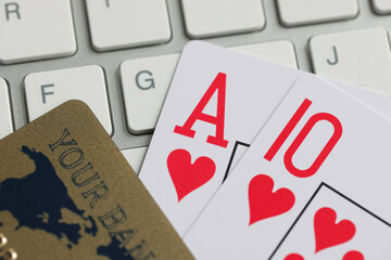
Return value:
<svg viewBox="0 0 391 260">
<path fill-rule="evenodd" d="M 181 0 L 187 34 L 192 38 L 261 30 L 261 0 Z"/>
</svg>

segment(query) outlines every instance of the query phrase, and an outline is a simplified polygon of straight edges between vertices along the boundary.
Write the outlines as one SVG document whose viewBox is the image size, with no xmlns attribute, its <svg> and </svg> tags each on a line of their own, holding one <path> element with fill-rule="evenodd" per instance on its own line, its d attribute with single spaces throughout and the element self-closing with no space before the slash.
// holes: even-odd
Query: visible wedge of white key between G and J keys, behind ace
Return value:
<svg viewBox="0 0 391 260">
<path fill-rule="evenodd" d="M 294 47 L 289 40 L 238 46 L 229 49 L 280 65 L 298 68 Z"/>
</svg>

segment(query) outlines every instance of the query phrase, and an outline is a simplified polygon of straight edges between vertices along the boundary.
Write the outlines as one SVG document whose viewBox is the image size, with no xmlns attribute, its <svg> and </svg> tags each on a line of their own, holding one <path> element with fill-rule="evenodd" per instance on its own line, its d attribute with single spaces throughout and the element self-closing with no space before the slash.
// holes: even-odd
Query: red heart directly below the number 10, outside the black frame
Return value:
<svg viewBox="0 0 391 260">
<path fill-rule="evenodd" d="M 250 223 L 272 218 L 290 210 L 294 194 L 288 188 L 273 193 L 274 181 L 268 176 L 256 176 L 249 184 Z"/>
</svg>

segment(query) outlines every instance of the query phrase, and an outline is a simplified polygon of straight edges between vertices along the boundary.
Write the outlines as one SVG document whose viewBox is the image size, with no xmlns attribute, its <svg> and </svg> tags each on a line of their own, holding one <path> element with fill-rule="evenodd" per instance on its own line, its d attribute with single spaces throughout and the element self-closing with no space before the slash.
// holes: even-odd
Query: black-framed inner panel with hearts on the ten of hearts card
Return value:
<svg viewBox="0 0 391 260">
<path fill-rule="evenodd" d="M 272 259 L 391 259 L 390 242 L 390 224 L 321 183 Z"/>
</svg>

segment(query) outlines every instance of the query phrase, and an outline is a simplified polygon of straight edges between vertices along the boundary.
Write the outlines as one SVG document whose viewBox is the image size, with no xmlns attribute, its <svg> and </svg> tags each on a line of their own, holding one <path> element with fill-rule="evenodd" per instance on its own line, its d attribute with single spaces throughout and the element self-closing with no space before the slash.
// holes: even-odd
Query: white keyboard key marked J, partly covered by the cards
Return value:
<svg viewBox="0 0 391 260">
<path fill-rule="evenodd" d="M 316 74 L 391 95 L 390 44 L 383 28 L 315 36 L 310 48 Z"/>
</svg>

